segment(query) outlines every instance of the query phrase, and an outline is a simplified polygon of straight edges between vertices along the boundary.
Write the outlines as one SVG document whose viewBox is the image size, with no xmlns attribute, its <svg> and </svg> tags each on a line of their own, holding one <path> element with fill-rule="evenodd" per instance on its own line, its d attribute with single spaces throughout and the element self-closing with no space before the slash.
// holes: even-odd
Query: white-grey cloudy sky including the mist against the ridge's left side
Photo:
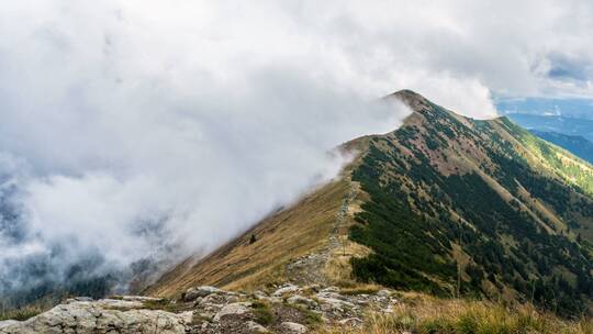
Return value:
<svg viewBox="0 0 593 334">
<path fill-rule="evenodd" d="M 0 279 L 208 252 L 396 129 L 373 101 L 399 89 L 475 118 L 591 99 L 592 25 L 591 1 L 0 1 Z"/>
</svg>

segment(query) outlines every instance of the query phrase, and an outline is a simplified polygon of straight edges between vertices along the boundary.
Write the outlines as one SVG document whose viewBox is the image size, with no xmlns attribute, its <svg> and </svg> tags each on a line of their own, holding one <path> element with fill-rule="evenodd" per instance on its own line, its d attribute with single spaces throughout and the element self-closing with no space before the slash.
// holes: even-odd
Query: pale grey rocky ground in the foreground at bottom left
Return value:
<svg viewBox="0 0 593 334">
<path fill-rule="evenodd" d="M 243 293 L 195 287 L 176 300 L 69 299 L 26 321 L 0 322 L 0 333 L 307 333 L 327 324 L 360 326 L 365 312 L 389 313 L 398 302 L 389 290 L 284 285 Z"/>
</svg>

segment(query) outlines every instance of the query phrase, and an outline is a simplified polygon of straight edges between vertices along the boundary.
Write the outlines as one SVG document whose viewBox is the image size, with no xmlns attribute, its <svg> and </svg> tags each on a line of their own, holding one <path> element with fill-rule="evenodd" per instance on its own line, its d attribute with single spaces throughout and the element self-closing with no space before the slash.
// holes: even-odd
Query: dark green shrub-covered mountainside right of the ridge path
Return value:
<svg viewBox="0 0 593 334">
<path fill-rule="evenodd" d="M 358 278 L 533 299 L 567 315 L 586 309 L 591 166 L 506 119 L 473 121 L 412 92 L 400 98 L 417 113 L 370 138 L 353 176 L 370 201 L 351 238 L 376 250 L 353 260 Z"/>
</svg>

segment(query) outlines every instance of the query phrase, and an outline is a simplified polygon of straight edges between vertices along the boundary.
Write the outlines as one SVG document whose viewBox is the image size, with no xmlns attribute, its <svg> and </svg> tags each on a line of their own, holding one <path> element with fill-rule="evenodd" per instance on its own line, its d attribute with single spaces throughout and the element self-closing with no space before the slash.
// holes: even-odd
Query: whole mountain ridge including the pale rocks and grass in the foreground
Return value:
<svg viewBox="0 0 593 334">
<path fill-rule="evenodd" d="M 385 99 L 413 110 L 400 129 L 344 143 L 338 178 L 145 297 L 18 310 L 0 333 L 590 333 L 593 167 L 504 116 Z"/>
</svg>

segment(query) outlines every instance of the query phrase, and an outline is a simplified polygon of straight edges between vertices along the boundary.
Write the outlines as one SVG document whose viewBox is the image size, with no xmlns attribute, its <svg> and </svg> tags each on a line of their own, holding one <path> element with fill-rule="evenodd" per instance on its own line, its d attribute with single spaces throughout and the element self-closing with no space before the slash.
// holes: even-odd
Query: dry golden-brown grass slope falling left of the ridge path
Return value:
<svg viewBox="0 0 593 334">
<path fill-rule="evenodd" d="M 348 191 L 346 178 L 325 185 L 205 258 L 187 259 L 144 293 L 170 298 L 200 285 L 251 290 L 282 281 L 289 260 L 327 244 L 336 213 Z M 253 244 L 249 243 L 251 235 L 257 237 Z"/>
</svg>

